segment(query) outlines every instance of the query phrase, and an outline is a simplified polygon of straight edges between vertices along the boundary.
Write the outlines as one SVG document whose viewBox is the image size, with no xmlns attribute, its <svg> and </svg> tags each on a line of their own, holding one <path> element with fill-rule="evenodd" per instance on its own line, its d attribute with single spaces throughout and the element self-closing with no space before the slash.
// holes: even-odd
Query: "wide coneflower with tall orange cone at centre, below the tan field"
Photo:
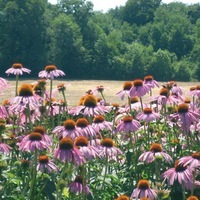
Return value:
<svg viewBox="0 0 200 200">
<path fill-rule="evenodd" d="M 89 117 L 104 115 L 105 112 L 108 112 L 108 109 L 105 106 L 98 105 L 97 98 L 92 94 L 84 96 L 80 106 L 69 110 L 69 113 L 72 115 L 82 114 Z"/>
</svg>

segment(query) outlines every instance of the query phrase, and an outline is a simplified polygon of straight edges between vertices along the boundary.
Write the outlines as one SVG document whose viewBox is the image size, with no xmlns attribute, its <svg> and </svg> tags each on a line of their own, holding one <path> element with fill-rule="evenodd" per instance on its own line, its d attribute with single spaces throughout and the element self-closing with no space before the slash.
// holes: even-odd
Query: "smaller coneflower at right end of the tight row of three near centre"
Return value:
<svg viewBox="0 0 200 200">
<path fill-rule="evenodd" d="M 92 127 L 94 127 L 96 130 L 109 130 L 112 131 L 112 122 L 108 122 L 105 120 L 105 117 L 103 115 L 98 115 L 94 117 Z"/>
</svg>

